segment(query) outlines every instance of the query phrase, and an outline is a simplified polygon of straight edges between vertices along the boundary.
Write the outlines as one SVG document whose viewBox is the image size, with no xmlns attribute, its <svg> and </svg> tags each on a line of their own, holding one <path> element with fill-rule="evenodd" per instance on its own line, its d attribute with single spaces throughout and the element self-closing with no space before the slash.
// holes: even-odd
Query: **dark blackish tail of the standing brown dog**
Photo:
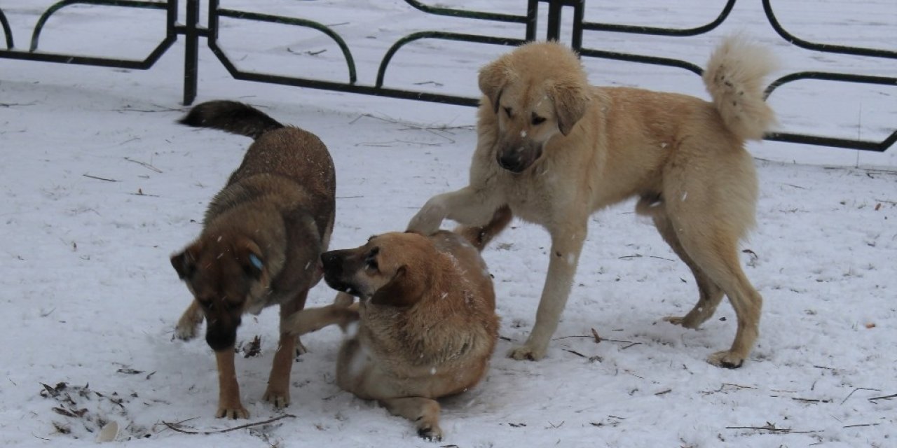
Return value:
<svg viewBox="0 0 897 448">
<path fill-rule="evenodd" d="M 274 118 L 248 104 L 237 101 L 207 101 L 197 104 L 179 120 L 181 125 L 211 127 L 231 134 L 246 135 L 253 140 L 283 127 Z"/>
</svg>

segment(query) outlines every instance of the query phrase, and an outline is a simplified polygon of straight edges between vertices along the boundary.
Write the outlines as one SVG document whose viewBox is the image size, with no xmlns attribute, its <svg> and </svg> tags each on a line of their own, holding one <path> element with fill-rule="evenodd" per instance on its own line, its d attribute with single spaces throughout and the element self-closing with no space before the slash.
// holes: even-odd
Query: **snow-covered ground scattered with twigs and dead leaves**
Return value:
<svg viewBox="0 0 897 448">
<path fill-rule="evenodd" d="M 710 22 L 723 3 L 589 0 L 586 19 L 693 27 Z M 27 47 L 50 4 L 0 1 L 17 47 Z M 366 85 L 389 45 L 417 30 L 523 36 L 519 25 L 425 16 L 396 0 L 223 4 L 334 25 Z M 441 4 L 522 13 L 525 2 Z M 773 4 L 805 39 L 897 49 L 893 0 Z M 143 57 L 162 38 L 163 19 L 152 11 L 67 8 L 48 22 L 41 49 Z M 317 32 L 222 26 L 222 47 L 241 67 L 348 78 L 337 48 Z M 715 42 L 736 30 L 775 51 L 777 76 L 897 73 L 893 60 L 790 47 L 773 34 L 759 1 L 738 2 L 709 35 L 587 32 L 585 45 L 702 65 Z M 506 50 L 422 41 L 396 55 L 387 85 L 473 97 L 476 69 Z M 205 47 L 200 58 L 197 102 L 246 101 L 327 143 L 338 185 L 333 248 L 405 228 L 432 194 L 466 185 L 474 108 L 238 82 Z M 171 340 L 190 297 L 168 258 L 199 233 L 206 203 L 249 140 L 175 124 L 186 110 L 182 64 L 183 40 L 145 72 L 0 59 L 0 445 L 89 446 L 101 423 L 114 420 L 117 444 L 166 448 L 897 446 L 897 399 L 877 398 L 897 393 L 897 151 L 776 142 L 750 147 L 762 192 L 743 261 L 765 303 L 758 345 L 740 369 L 704 361 L 734 336 L 727 302 L 700 331 L 660 320 L 690 309 L 697 291 L 628 202 L 592 219 L 557 339 L 540 362 L 505 352 L 533 324 L 547 234 L 515 221 L 484 253 L 501 340 L 483 383 L 444 401 L 441 443 L 422 441 L 409 422 L 336 387 L 335 328 L 303 338 L 310 351 L 293 366 L 292 405 L 282 412 L 262 401 L 275 309 L 245 319 L 239 332 L 241 344 L 261 340 L 258 356 L 237 361 L 252 418 L 213 418 L 212 351 L 202 339 Z M 585 64 L 593 82 L 706 98 L 697 76 L 683 70 Z M 897 123 L 893 86 L 790 86 L 770 99 L 784 131 L 882 140 Z M 322 283 L 309 306 L 332 297 Z M 605 340 L 596 343 L 593 329 Z M 273 421 L 258 424 L 266 420 Z M 253 425 L 226 431 L 245 424 Z"/>
</svg>

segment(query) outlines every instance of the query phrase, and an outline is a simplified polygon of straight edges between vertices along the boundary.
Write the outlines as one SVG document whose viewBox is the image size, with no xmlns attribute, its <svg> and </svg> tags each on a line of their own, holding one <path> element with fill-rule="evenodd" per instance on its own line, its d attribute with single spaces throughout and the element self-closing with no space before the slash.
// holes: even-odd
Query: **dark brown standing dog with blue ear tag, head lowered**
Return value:
<svg viewBox="0 0 897 448">
<path fill-rule="evenodd" d="M 218 364 L 215 415 L 248 418 L 233 364 L 240 317 L 279 305 L 284 319 L 305 306 L 309 289 L 321 279 L 318 256 L 327 250 L 334 225 L 333 160 L 314 134 L 233 101 L 200 104 L 180 122 L 255 139 L 205 211 L 202 234 L 171 256 L 194 296 L 176 335 L 194 338 L 205 318 L 205 340 Z M 274 354 L 264 399 L 278 408 L 290 403 L 296 344 L 283 333 Z"/>
</svg>

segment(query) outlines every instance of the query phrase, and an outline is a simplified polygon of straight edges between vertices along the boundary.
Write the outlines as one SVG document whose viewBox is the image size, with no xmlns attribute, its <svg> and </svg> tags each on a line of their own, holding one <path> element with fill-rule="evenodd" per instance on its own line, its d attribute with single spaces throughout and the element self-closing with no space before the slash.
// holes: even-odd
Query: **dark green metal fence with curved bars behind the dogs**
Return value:
<svg viewBox="0 0 897 448">
<path fill-rule="evenodd" d="M 396 52 L 398 52 L 402 47 L 411 42 L 422 39 L 440 39 L 504 46 L 518 46 L 520 44 L 523 44 L 524 42 L 535 40 L 537 38 L 536 33 L 540 8 L 547 7 L 547 27 L 544 39 L 559 39 L 561 37 L 560 33 L 562 12 L 572 10 L 573 19 L 570 45 L 579 51 L 580 56 L 614 59 L 619 61 L 629 61 L 643 64 L 666 65 L 682 68 L 692 73 L 701 75 L 701 67 L 679 59 L 634 55 L 585 47 L 582 40 L 583 31 L 597 30 L 617 33 L 667 36 L 671 39 L 684 36 L 695 36 L 709 32 L 710 30 L 714 30 L 721 23 L 725 22 L 729 13 L 731 13 L 733 7 L 736 4 L 736 0 L 727 0 L 727 3 L 723 5 L 717 18 L 709 23 L 695 28 L 675 29 L 587 22 L 584 20 L 586 0 L 527 0 L 526 12 L 518 15 L 450 9 L 440 6 L 432 6 L 430 4 L 423 4 L 422 2 L 419 2 L 417 0 L 405 0 L 406 4 L 421 11 L 422 13 L 459 17 L 475 21 L 518 23 L 522 28 L 522 39 L 501 38 L 478 34 L 464 34 L 440 30 L 422 30 L 414 32 L 401 39 L 396 40 L 396 42 L 388 48 L 388 51 L 383 56 L 383 59 L 380 62 L 376 82 L 373 85 L 363 85 L 357 82 L 356 69 L 351 49 L 345 43 L 344 39 L 341 38 L 340 35 L 331 28 L 319 22 L 313 22 L 297 17 L 285 17 L 280 15 L 254 13 L 222 8 L 219 0 L 206 1 L 208 7 L 208 25 L 207 27 L 203 27 L 200 25 L 199 21 L 201 0 L 185 0 L 186 13 L 185 22 L 183 24 L 179 23 L 178 21 L 179 0 L 168 0 L 164 3 L 138 0 L 61 0 L 56 4 L 50 6 L 47 11 L 41 14 L 39 21 L 32 31 L 30 47 L 28 50 L 20 50 L 15 47 L 15 44 L 13 42 L 12 30 L 10 29 L 9 23 L 6 20 L 2 8 L 0 8 L 0 25 L 3 26 L 4 37 L 6 41 L 6 49 L 0 49 L 0 58 L 147 70 L 151 68 L 152 65 L 154 65 L 159 60 L 159 58 L 163 54 L 165 54 L 166 51 L 168 51 L 168 49 L 179 39 L 180 36 L 183 36 L 185 40 L 186 50 L 184 61 L 185 105 L 191 104 L 193 100 L 196 99 L 199 43 L 200 39 L 205 39 L 206 44 L 212 50 L 213 54 L 218 58 L 218 60 L 227 69 L 227 71 L 231 73 L 231 76 L 238 80 L 268 82 L 297 87 L 308 87 L 313 89 L 339 90 L 399 99 L 417 99 L 422 101 L 475 106 L 478 101 L 478 99 L 475 98 L 444 95 L 428 91 L 401 90 L 385 87 L 383 80 L 389 62 L 392 60 L 392 57 L 396 55 Z M 47 23 L 49 17 L 54 13 L 57 13 L 59 10 L 74 4 L 95 4 L 134 9 L 163 10 L 166 12 L 165 37 L 161 40 L 158 46 L 152 49 L 148 56 L 144 57 L 144 59 L 118 59 L 94 56 L 77 56 L 39 51 L 40 32 L 44 29 L 44 26 Z M 522 7 L 523 2 L 520 2 L 520 5 Z M 802 47 L 806 48 L 807 50 L 823 53 L 838 53 L 855 56 L 897 59 L 897 52 L 891 50 L 828 45 L 808 41 L 806 39 L 800 39 L 786 30 L 781 25 L 781 23 L 779 23 L 779 20 L 776 17 L 775 9 L 771 4 L 771 0 L 762 0 L 762 5 L 763 10 L 766 14 L 766 18 L 768 19 L 773 30 L 779 33 L 779 36 L 781 36 L 782 39 L 787 40 L 789 43 L 797 47 Z M 330 80 L 283 76 L 270 73 L 247 72 L 240 70 L 237 65 L 235 65 L 227 56 L 227 54 L 222 50 L 222 47 L 219 46 L 218 36 L 219 31 L 221 30 L 219 21 L 221 18 L 230 18 L 241 21 L 271 22 L 318 30 L 327 35 L 328 38 L 333 39 L 336 45 L 338 45 L 342 50 L 345 64 L 348 70 L 348 80 L 346 82 L 338 82 Z M 766 95 L 770 95 L 780 86 L 788 82 L 799 82 L 804 80 L 824 80 L 832 82 L 853 82 L 862 84 L 897 86 L 897 78 L 893 77 L 867 76 L 853 73 L 798 72 L 789 73 L 788 75 L 782 76 L 779 79 L 771 82 L 769 87 L 766 89 Z M 788 133 L 767 134 L 766 139 L 779 142 L 797 142 L 853 150 L 883 152 L 893 146 L 894 142 L 897 142 L 897 129 L 895 129 L 892 134 L 888 135 L 881 142 L 826 137 L 822 135 Z"/>
</svg>

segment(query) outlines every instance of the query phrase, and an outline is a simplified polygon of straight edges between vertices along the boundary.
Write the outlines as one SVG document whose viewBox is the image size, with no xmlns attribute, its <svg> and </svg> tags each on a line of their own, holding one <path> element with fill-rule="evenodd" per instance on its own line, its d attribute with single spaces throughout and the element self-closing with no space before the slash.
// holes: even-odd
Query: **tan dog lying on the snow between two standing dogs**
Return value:
<svg viewBox="0 0 897 448">
<path fill-rule="evenodd" d="M 511 219 L 497 211 L 495 228 Z M 439 440 L 440 404 L 483 378 L 498 337 L 492 277 L 479 250 L 492 228 L 371 237 L 364 246 L 321 255 L 330 287 L 345 291 L 334 305 L 295 314 L 284 331 L 297 334 L 360 319 L 339 351 L 336 383 L 377 400 Z M 349 306 L 353 298 L 358 304 Z"/>
</svg>

